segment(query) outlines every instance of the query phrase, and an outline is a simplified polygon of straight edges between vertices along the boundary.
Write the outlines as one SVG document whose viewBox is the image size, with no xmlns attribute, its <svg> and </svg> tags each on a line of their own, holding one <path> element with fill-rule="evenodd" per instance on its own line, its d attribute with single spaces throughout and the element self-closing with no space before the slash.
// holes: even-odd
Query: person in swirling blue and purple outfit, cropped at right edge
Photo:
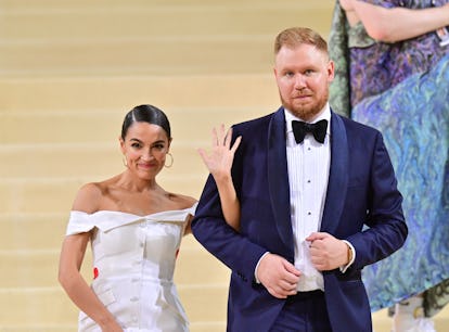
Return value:
<svg viewBox="0 0 449 332">
<path fill-rule="evenodd" d="M 341 0 L 332 24 L 331 105 L 383 132 L 405 199 L 405 247 L 363 274 L 373 310 L 407 299 L 396 331 L 449 301 L 447 25 L 448 0 Z"/>
</svg>

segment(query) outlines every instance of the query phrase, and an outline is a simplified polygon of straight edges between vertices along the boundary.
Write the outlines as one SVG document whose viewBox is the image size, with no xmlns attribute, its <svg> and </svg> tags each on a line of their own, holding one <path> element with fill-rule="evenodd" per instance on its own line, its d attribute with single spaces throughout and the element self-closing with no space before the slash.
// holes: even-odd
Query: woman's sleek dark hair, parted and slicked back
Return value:
<svg viewBox="0 0 449 332">
<path fill-rule="evenodd" d="M 171 139 L 170 123 L 168 122 L 167 115 L 153 105 L 136 106 L 125 115 L 124 124 L 121 125 L 121 138 L 124 140 L 129 127 L 133 123 L 147 123 L 159 126 L 167 133 L 168 140 Z"/>
</svg>

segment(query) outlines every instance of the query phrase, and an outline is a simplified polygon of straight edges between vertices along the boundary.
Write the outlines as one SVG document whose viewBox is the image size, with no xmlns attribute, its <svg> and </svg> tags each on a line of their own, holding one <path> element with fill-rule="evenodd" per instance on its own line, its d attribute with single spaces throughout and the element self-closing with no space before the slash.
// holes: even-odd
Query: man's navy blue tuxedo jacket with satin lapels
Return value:
<svg viewBox="0 0 449 332">
<path fill-rule="evenodd" d="M 241 204 L 241 230 L 235 232 L 226 224 L 210 176 L 192 230 L 232 270 L 228 331 L 264 332 L 285 301 L 255 282 L 256 265 L 267 251 L 294 263 L 284 110 L 233 126 L 233 140 L 239 136 L 242 142 L 232 177 Z M 330 139 L 331 168 L 320 231 L 349 241 L 357 254 L 345 273 L 339 269 L 323 272 L 329 318 L 334 332 L 368 332 L 372 322 L 361 270 L 403 244 L 408 229 L 402 196 L 377 130 L 332 112 Z"/>
</svg>

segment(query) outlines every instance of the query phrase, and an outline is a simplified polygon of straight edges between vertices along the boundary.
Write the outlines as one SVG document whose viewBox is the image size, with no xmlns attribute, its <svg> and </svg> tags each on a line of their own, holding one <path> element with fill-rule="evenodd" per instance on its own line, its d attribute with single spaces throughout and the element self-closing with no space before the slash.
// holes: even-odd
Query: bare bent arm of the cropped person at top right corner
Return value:
<svg viewBox="0 0 449 332">
<path fill-rule="evenodd" d="M 364 1 L 339 0 L 351 26 L 361 21 L 371 38 L 396 42 L 449 25 L 449 3 L 438 8 L 383 8 Z"/>
</svg>

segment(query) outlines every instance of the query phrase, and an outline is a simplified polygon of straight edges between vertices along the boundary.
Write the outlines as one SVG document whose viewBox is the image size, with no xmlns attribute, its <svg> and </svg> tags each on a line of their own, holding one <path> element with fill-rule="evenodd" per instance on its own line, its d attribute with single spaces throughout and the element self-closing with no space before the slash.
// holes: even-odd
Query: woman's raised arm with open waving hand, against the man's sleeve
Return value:
<svg viewBox="0 0 449 332">
<path fill-rule="evenodd" d="M 240 202 L 238 200 L 235 188 L 232 182 L 231 167 L 234 159 L 234 153 L 240 145 L 241 137 L 236 138 L 231 146 L 232 128 L 224 131 L 221 125 L 213 129 L 213 151 L 208 155 L 203 149 L 198 153 L 204 164 L 214 177 L 220 195 L 221 207 L 226 221 L 236 231 L 240 229 Z"/>
</svg>

